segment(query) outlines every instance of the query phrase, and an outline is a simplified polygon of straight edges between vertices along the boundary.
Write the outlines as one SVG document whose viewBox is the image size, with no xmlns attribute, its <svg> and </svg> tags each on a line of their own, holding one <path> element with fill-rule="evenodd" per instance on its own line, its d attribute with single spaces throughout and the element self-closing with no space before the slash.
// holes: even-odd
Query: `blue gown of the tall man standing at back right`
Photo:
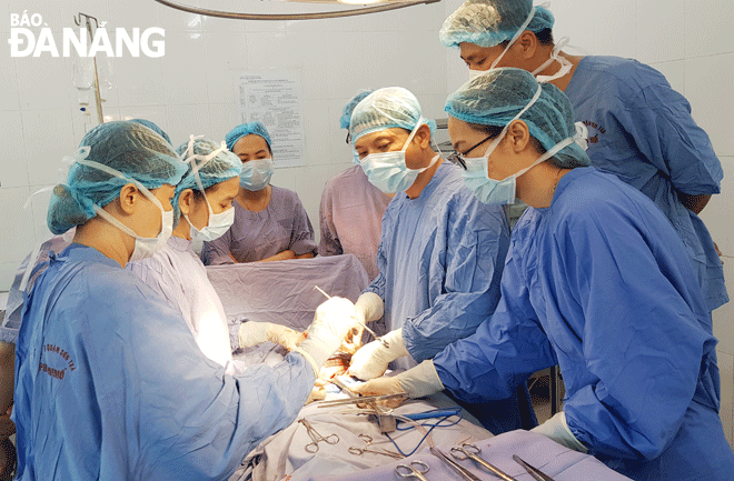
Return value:
<svg viewBox="0 0 734 481">
<path fill-rule="evenodd" d="M 651 198 L 686 247 L 708 310 L 728 301 L 711 234 L 677 193 L 720 192 L 722 166 L 688 101 L 657 70 L 618 57 L 584 57 L 565 90 L 588 128 L 592 166 Z"/>
</svg>

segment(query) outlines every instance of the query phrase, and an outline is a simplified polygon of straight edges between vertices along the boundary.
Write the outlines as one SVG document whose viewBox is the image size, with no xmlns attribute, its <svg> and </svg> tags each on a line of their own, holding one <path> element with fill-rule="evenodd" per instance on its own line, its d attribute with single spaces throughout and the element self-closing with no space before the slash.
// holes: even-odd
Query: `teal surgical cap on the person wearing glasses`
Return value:
<svg viewBox="0 0 734 481">
<path fill-rule="evenodd" d="M 469 80 L 448 96 L 444 110 L 455 119 L 480 126 L 505 127 L 533 99 L 540 86 L 538 100 L 523 113 L 523 120 L 545 150 L 576 133 L 571 101 L 550 83 L 538 83 L 522 69 L 502 68 Z M 589 166 L 586 151 L 573 142 L 558 151 L 552 161 L 562 168 Z"/>
</svg>

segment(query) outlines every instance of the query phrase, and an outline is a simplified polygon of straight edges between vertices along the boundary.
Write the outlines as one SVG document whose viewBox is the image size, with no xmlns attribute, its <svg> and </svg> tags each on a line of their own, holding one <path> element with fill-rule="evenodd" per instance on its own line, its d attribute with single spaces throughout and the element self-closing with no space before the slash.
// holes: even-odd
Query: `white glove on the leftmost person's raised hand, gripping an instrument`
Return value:
<svg viewBox="0 0 734 481">
<path fill-rule="evenodd" d="M 321 367 L 339 349 L 347 333 L 357 324 L 357 312 L 350 300 L 334 297 L 316 309 L 308 338 L 295 352 L 300 352 L 314 368 L 318 378 Z"/>
</svg>

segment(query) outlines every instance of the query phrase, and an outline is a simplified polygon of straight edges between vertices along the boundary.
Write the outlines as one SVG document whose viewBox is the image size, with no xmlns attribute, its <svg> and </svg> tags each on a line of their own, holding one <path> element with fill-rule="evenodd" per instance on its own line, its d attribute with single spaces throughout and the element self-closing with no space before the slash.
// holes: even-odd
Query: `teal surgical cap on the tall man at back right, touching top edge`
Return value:
<svg viewBox="0 0 734 481">
<path fill-rule="evenodd" d="M 462 42 L 479 47 L 495 47 L 509 41 L 533 9 L 533 0 L 466 0 L 448 16 L 438 32 L 445 47 L 458 47 Z M 553 28 L 553 13 L 535 7 L 535 16 L 527 30 L 538 33 Z"/>
</svg>

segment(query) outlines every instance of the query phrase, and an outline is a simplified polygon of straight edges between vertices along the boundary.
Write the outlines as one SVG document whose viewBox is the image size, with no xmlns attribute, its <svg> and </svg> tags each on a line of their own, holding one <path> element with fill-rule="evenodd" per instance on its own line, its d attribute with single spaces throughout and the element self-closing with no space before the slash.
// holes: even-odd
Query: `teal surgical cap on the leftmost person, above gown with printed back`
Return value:
<svg viewBox="0 0 734 481">
<path fill-rule="evenodd" d="M 176 186 L 186 164 L 173 148 L 151 129 L 130 121 L 101 123 L 87 132 L 70 160 L 85 159 L 116 169 L 126 179 L 83 166 L 71 164 L 66 184 L 53 188 L 47 216 L 49 229 L 60 234 L 97 216 L 95 204 L 107 206 L 133 179 L 148 189 Z"/>
</svg>

